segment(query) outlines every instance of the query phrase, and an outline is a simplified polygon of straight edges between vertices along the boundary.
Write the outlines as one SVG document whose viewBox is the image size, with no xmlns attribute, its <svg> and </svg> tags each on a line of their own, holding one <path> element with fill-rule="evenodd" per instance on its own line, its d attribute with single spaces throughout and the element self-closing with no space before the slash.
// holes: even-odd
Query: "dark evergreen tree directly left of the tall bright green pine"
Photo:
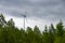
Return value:
<svg viewBox="0 0 65 43">
<path fill-rule="evenodd" d="M 54 38 L 55 38 L 55 28 L 53 24 L 49 27 L 49 37 L 50 37 L 50 43 L 54 43 Z"/>
</svg>

